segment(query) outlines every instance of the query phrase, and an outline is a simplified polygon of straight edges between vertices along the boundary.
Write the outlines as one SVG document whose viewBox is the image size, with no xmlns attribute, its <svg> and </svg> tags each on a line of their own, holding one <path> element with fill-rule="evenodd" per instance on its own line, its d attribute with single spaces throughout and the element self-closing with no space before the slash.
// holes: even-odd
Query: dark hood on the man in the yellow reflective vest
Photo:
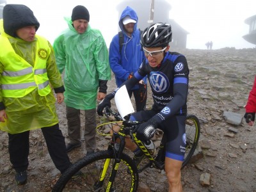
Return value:
<svg viewBox="0 0 256 192">
<path fill-rule="evenodd" d="M 6 4 L 3 9 L 4 32 L 10 36 L 16 37 L 16 31 L 27 26 L 36 26 L 40 24 L 34 13 L 24 4 Z"/>
</svg>

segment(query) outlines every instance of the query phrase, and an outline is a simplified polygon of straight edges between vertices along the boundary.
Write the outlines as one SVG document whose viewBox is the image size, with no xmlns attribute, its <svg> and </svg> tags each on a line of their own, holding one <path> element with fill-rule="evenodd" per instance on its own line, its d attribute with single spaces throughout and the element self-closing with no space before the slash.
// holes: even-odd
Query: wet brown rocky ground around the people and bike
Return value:
<svg viewBox="0 0 256 192">
<path fill-rule="evenodd" d="M 189 113 L 198 116 L 201 123 L 200 156 L 182 169 L 184 191 L 256 191 L 256 128 L 243 119 L 243 106 L 255 76 L 256 49 L 177 51 L 186 56 L 190 68 Z M 108 86 L 109 91 L 114 90 L 115 81 L 109 81 Z M 147 108 L 151 103 L 148 99 Z M 57 108 L 67 138 L 65 104 Z M 235 116 L 235 122 L 228 119 L 227 112 L 231 112 L 231 118 Z M 0 132 L 0 191 L 51 191 L 60 176 L 42 133 L 31 131 L 30 137 L 28 182 L 17 186 L 8 156 L 8 136 Z M 106 148 L 105 138 L 97 136 L 97 141 L 98 150 Z M 85 154 L 83 145 L 68 156 L 75 162 Z M 163 172 L 148 169 L 140 178 L 139 191 L 168 191 Z"/>
</svg>

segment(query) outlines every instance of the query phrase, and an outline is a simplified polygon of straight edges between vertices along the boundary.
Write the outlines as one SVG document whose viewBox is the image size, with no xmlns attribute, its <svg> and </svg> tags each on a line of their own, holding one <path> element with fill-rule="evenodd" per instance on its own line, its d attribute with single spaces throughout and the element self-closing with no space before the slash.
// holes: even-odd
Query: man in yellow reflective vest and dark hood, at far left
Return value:
<svg viewBox="0 0 256 192">
<path fill-rule="evenodd" d="M 61 173 L 70 166 L 56 113 L 65 91 L 51 44 L 36 35 L 40 24 L 23 4 L 7 4 L 0 20 L 0 129 L 8 132 L 17 184 L 27 180 L 29 131 L 42 128 L 49 154 Z M 50 86 L 51 85 L 51 86 Z"/>
</svg>

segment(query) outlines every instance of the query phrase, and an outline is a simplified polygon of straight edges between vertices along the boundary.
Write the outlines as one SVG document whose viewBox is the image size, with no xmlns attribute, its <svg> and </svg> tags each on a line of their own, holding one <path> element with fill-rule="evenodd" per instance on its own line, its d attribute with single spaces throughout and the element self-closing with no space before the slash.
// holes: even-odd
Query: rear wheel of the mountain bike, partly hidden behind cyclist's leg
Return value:
<svg viewBox="0 0 256 192">
<path fill-rule="evenodd" d="M 182 163 L 182 168 L 189 163 L 189 160 L 193 156 L 196 147 L 198 145 L 198 140 L 200 136 L 200 122 L 195 115 L 187 115 L 186 118 L 186 152 L 184 156 L 184 161 Z"/>
</svg>

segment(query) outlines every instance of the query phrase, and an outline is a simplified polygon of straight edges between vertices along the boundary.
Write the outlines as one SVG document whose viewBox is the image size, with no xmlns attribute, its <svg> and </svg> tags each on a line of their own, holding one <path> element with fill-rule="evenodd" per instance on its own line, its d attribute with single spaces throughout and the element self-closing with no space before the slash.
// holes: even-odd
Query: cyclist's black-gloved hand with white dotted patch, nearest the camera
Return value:
<svg viewBox="0 0 256 192">
<path fill-rule="evenodd" d="M 147 122 L 138 125 L 136 129 L 137 138 L 142 141 L 150 140 L 156 132 L 157 125 L 158 123 L 154 117 L 150 118 Z"/>
</svg>

